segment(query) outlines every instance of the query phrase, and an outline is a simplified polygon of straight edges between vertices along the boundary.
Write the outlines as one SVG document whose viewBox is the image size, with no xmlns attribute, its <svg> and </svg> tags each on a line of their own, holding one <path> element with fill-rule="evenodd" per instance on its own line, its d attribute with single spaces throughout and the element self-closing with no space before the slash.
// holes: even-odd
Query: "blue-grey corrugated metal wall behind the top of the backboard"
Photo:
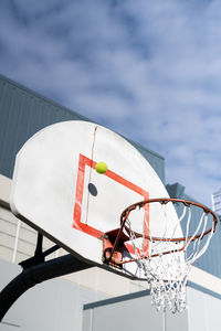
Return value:
<svg viewBox="0 0 221 331">
<path fill-rule="evenodd" d="M 12 177 L 14 158 L 23 143 L 40 129 L 64 120 L 90 120 L 0 75 L 0 173 Z M 161 156 L 128 140 L 165 181 Z"/>
</svg>

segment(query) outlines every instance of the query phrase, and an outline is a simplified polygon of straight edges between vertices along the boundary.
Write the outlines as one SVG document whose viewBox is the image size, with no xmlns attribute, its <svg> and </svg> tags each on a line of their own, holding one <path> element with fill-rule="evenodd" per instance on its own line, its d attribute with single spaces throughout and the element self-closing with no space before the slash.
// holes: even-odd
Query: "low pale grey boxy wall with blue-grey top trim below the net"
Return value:
<svg viewBox="0 0 221 331">
<path fill-rule="evenodd" d="M 176 314 L 157 312 L 149 291 L 84 305 L 83 331 L 155 330 L 219 331 L 221 296 L 189 284 L 188 309 Z"/>
</svg>

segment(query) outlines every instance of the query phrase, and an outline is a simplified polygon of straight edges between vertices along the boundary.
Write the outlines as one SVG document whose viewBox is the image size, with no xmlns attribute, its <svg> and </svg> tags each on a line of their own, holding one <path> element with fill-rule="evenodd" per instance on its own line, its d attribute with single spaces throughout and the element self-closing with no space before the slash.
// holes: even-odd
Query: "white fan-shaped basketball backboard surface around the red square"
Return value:
<svg viewBox="0 0 221 331">
<path fill-rule="evenodd" d="M 168 193 L 146 159 L 126 140 L 113 131 L 85 121 L 67 121 L 50 126 L 35 134 L 17 156 L 11 209 L 33 227 L 52 237 L 80 257 L 103 265 L 103 242 L 72 227 L 80 154 L 95 162 L 105 161 L 108 169 L 126 182 L 165 197 Z M 97 190 L 88 191 L 88 183 Z M 119 227 L 123 210 L 144 196 L 124 184 L 101 175 L 85 166 L 81 222 L 106 232 Z M 150 206 L 152 234 L 162 233 L 156 225 L 159 210 Z M 177 215 L 171 210 L 171 222 Z M 133 220 L 139 232 L 143 217 Z M 125 273 L 137 273 L 137 265 L 127 264 Z M 136 276 L 139 276 L 136 274 Z"/>
</svg>

